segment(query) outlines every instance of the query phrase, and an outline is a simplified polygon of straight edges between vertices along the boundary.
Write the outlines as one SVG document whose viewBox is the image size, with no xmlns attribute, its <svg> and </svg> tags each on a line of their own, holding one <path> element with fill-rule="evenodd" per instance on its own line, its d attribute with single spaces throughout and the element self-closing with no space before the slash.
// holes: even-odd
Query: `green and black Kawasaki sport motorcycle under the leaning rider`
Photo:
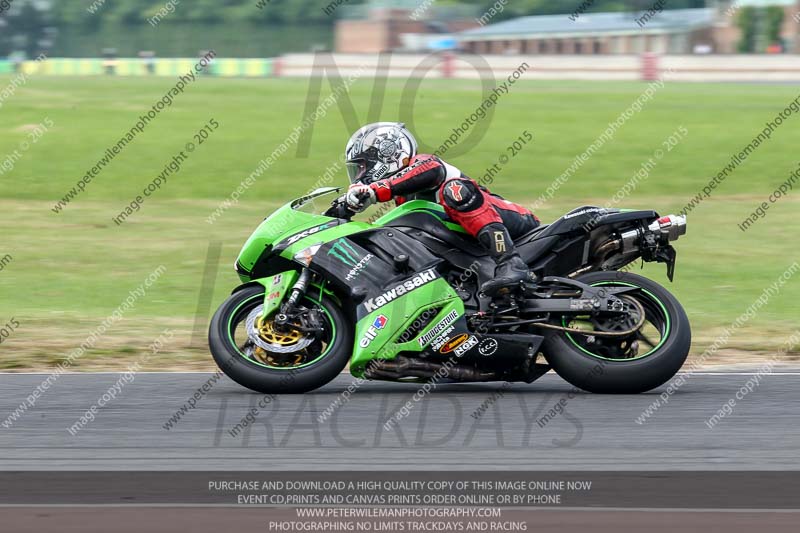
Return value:
<svg viewBox="0 0 800 533">
<path fill-rule="evenodd" d="M 523 381 L 554 369 L 597 393 L 638 393 L 684 363 L 680 303 L 621 269 L 663 262 L 672 280 L 686 219 L 582 207 L 515 239 L 530 281 L 493 297 L 495 263 L 437 204 L 414 200 L 374 224 L 351 220 L 327 187 L 264 220 L 236 261 L 242 285 L 211 321 L 209 345 L 234 381 L 302 393 L 348 362 L 358 378 Z M 306 206 L 306 209 L 303 207 Z"/>
</svg>

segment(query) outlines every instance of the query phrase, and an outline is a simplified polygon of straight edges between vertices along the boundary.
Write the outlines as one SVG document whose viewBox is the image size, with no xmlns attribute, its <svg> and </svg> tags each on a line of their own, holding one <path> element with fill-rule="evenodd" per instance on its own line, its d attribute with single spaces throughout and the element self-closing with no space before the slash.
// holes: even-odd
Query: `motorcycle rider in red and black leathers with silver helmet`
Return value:
<svg viewBox="0 0 800 533">
<path fill-rule="evenodd" d="M 390 200 L 397 205 L 412 199 L 437 202 L 497 263 L 494 279 L 484 283 L 481 292 L 495 295 L 528 279 L 528 266 L 513 238 L 539 226 L 539 219 L 440 158 L 417 154 L 417 141 L 405 124 L 377 122 L 360 128 L 347 142 L 345 159 L 350 210 L 358 213 Z"/>
</svg>

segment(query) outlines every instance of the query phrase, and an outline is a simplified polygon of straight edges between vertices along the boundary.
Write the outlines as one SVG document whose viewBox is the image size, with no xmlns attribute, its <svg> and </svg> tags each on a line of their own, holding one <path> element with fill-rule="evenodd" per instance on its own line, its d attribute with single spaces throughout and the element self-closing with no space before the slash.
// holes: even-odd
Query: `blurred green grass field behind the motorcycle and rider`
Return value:
<svg viewBox="0 0 800 533">
<path fill-rule="evenodd" d="M 0 77 L 0 89 L 10 82 Z M 0 107 L 0 325 L 19 323 L 0 344 L 0 368 L 52 366 L 78 346 L 157 266 L 166 272 L 122 321 L 97 341 L 77 369 L 124 368 L 165 328 L 170 346 L 147 368 L 210 368 L 190 346 L 209 243 L 222 243 L 212 311 L 237 283 L 232 264 L 250 231 L 276 206 L 301 195 L 340 157 L 350 135 L 338 107 L 313 130 L 309 155 L 284 154 L 214 223 L 206 218 L 286 139 L 303 117 L 308 87 L 301 80 L 203 79 L 158 115 L 63 212 L 51 208 L 164 94 L 174 80 L 32 78 Z M 389 81 L 382 120 L 400 116 L 404 84 Z M 520 82 L 502 97 L 485 136 L 450 162 L 475 178 L 495 164 L 523 132 L 534 135 L 495 177 L 492 189 L 530 205 L 618 114 L 642 83 Z M 328 90 L 327 83 L 324 86 Z M 351 99 L 367 122 L 372 80 L 358 81 Z M 539 209 L 546 222 L 584 204 L 605 204 L 679 127 L 685 140 L 666 153 L 621 206 L 677 212 L 800 93 L 790 85 L 667 84 Z M 323 96 L 328 94 L 323 92 Z M 414 129 L 438 146 L 480 104 L 478 82 L 426 81 L 414 100 Z M 219 129 L 190 154 L 180 172 L 123 225 L 118 215 L 184 149 L 210 119 Z M 378 118 L 378 117 L 369 117 Z M 34 125 L 52 121 L 41 138 Z M 800 117 L 793 116 L 690 213 L 678 244 L 670 289 L 685 305 L 698 354 L 794 261 L 800 191 L 773 204 L 742 232 L 737 224 L 797 168 Z M 21 157 L 3 167 L 6 154 Z M 17 158 L 14 158 L 17 159 Z M 335 183 L 346 185 L 342 170 Z M 667 283 L 663 265 L 645 273 Z M 795 330 L 800 282 L 790 281 L 715 361 L 743 361 L 775 352 Z M 202 341 L 202 339 L 201 339 Z"/>
</svg>

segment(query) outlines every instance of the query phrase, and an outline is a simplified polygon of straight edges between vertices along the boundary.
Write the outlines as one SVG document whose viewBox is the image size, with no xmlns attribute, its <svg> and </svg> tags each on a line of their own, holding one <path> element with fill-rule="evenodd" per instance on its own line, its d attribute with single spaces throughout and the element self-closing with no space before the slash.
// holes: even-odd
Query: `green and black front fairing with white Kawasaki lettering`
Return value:
<svg viewBox="0 0 800 533">
<path fill-rule="evenodd" d="M 409 202 L 375 224 L 366 224 L 300 211 L 301 200 L 284 205 L 265 219 L 237 259 L 242 281 L 265 287 L 265 314 L 275 312 L 297 279 L 297 271 L 290 270 L 287 261 L 299 267 L 307 253 L 307 266 L 320 273 L 330 290 L 343 296 L 345 305 L 353 306 L 353 375 L 363 376 L 375 359 L 436 351 L 453 336 L 469 337 L 463 302 L 438 274 L 438 258 L 412 237 L 391 228 L 381 229 L 413 211 L 444 218 L 440 206 Z M 365 230 L 374 231 L 364 235 Z M 355 234 L 361 236 L 352 240 Z M 388 258 L 379 258 L 359 244 L 370 241 Z M 391 260 L 401 253 L 410 256 L 406 273 L 398 272 Z M 274 272 L 263 274 L 264 264 L 275 265 Z"/>
</svg>

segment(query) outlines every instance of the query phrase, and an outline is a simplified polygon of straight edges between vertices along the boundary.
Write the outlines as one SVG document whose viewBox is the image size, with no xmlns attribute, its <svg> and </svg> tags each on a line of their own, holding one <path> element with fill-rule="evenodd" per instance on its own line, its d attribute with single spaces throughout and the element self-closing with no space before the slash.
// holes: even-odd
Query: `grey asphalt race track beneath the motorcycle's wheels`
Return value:
<svg viewBox="0 0 800 533">
<path fill-rule="evenodd" d="M 551 373 L 504 389 L 439 384 L 415 401 L 418 385 L 359 384 L 347 374 L 314 393 L 280 397 L 223 377 L 165 429 L 211 374 L 139 373 L 127 383 L 116 373 L 64 374 L 10 424 L 6 417 L 47 375 L 0 374 L 0 469 L 797 469 L 800 372 L 775 370 L 758 383 L 744 371 L 684 376 L 641 423 L 666 388 L 638 396 L 575 393 Z M 115 398 L 87 418 L 115 384 Z M 342 395 L 348 387 L 357 389 L 349 400 Z M 341 405 L 326 415 L 337 398 Z M 709 428 L 730 401 L 731 414 Z M 404 405 L 406 415 L 387 426 Z M 244 427 L 248 413 L 253 422 Z M 82 415 L 86 423 L 75 426 Z"/>
</svg>

